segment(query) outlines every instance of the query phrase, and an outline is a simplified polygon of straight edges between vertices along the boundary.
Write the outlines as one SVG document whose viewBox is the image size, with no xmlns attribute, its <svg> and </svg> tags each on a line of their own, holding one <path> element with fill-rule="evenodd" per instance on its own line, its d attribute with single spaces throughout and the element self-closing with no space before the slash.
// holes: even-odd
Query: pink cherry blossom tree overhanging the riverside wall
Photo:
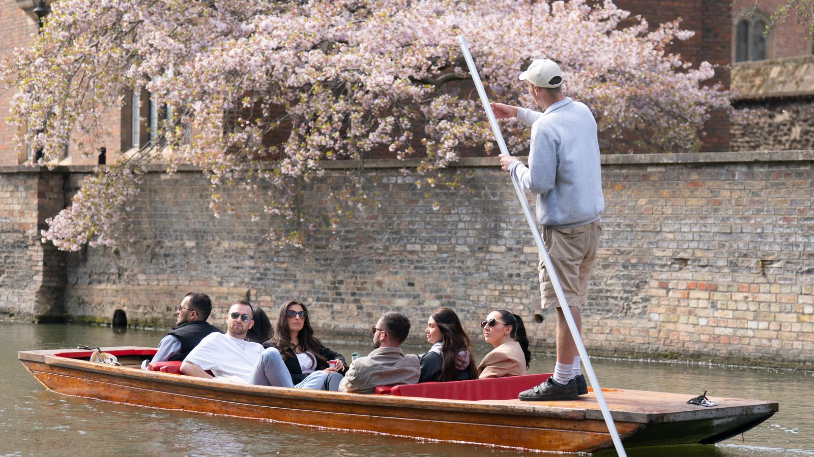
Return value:
<svg viewBox="0 0 814 457">
<path fill-rule="evenodd" d="M 665 50 L 692 32 L 677 20 L 650 31 L 609 1 L 60 0 L 52 8 L 42 34 L 4 70 L 17 90 L 18 147 L 42 149 L 39 164 L 50 165 L 69 138 L 89 145 L 107 134 L 122 94 L 144 87 L 166 106 L 147 146 L 98 168 L 49 220 L 43 239 L 63 250 L 116 242 L 149 163 L 168 172 L 198 166 L 215 215 L 250 202 L 252 218 L 287 221 L 270 235 L 291 246 L 370 204 L 370 157 L 417 158 L 403 170 L 416 185 L 461 186 L 450 167 L 462 151 L 495 151 L 457 35 L 496 101 L 532 107 L 519 72 L 535 58 L 558 61 L 567 94 L 594 110 L 608 141 L 697 150 L 709 113 L 729 109 L 729 93 L 707 84 L 712 65 L 692 67 Z M 522 152 L 527 129 L 504 128 L 510 150 Z M 303 215 L 304 186 L 326 160 L 355 161 L 353 185 L 330 194 L 330 214 Z"/>
</svg>

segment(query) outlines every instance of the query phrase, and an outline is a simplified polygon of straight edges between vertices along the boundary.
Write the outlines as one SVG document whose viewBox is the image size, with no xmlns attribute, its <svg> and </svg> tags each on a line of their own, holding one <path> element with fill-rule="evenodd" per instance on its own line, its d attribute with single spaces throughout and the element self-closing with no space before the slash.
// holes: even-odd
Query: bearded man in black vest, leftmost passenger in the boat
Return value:
<svg viewBox="0 0 814 457">
<path fill-rule="evenodd" d="M 178 317 L 173 330 L 161 338 L 158 351 L 151 360 L 145 360 L 142 368 L 147 369 L 151 362 L 165 362 L 167 360 L 182 361 L 190 350 L 209 333 L 223 333 L 206 320 L 212 312 L 212 300 L 207 294 L 190 291 L 184 295 L 175 315 Z"/>
</svg>

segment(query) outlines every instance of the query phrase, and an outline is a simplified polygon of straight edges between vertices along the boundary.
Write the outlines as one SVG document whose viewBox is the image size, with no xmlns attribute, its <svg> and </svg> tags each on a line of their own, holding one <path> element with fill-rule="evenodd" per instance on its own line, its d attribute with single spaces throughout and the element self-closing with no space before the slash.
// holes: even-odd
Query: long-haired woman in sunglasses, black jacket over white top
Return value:
<svg viewBox="0 0 814 457">
<path fill-rule="evenodd" d="M 339 381 L 345 372 L 345 358 L 325 346 L 313 332 L 308 308 L 296 300 L 282 303 L 277 322 L 274 324 L 274 337 L 263 343 L 280 351 L 283 362 L 291 373 L 291 381 L 299 385 L 306 379 L 315 383 L 322 378 L 324 385 L 306 387 L 308 389 L 339 390 Z M 328 363 L 335 360 L 335 366 Z M 326 372 L 326 376 L 313 376 L 315 372 Z"/>
</svg>

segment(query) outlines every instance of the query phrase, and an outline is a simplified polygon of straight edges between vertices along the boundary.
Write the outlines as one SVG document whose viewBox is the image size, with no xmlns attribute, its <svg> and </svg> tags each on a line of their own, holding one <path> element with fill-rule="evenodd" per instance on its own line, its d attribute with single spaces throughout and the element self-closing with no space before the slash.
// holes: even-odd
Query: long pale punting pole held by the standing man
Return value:
<svg viewBox="0 0 814 457">
<path fill-rule="evenodd" d="M 461 45 L 463 57 L 464 59 L 466 59 L 466 66 L 469 67 L 469 72 L 472 75 L 472 81 L 475 81 L 475 89 L 478 89 L 480 102 L 484 104 L 484 110 L 486 110 L 486 115 L 489 118 L 489 125 L 492 126 L 492 132 L 495 133 L 497 146 L 500 147 L 502 154 L 510 155 L 509 150 L 506 148 L 505 141 L 503 141 L 503 134 L 501 133 L 501 128 L 497 125 L 495 113 L 492 112 L 492 107 L 491 105 L 489 105 L 489 99 L 486 97 L 484 85 L 480 82 L 478 70 L 475 68 L 475 61 L 472 60 L 472 54 L 470 54 L 469 52 L 469 46 L 466 45 L 466 39 L 463 36 L 458 36 L 457 40 L 458 44 Z M 608 405 L 605 402 L 605 395 L 602 394 L 602 389 L 599 387 L 599 381 L 597 381 L 597 375 L 593 372 L 591 360 L 588 357 L 588 351 L 585 350 L 585 345 L 582 343 L 580 332 L 579 330 L 576 329 L 574 316 L 571 316 L 571 308 L 568 307 L 568 302 L 565 299 L 565 294 L 562 293 L 562 286 L 559 283 L 557 272 L 554 271 L 554 268 L 551 265 L 551 258 L 549 257 L 548 251 L 545 250 L 545 245 L 543 244 L 543 237 L 540 237 L 540 229 L 537 228 L 537 221 L 532 216 L 532 209 L 528 206 L 526 194 L 525 192 L 523 192 L 523 189 L 520 187 L 520 183 L 517 181 L 517 179 L 514 178 L 514 176 L 512 176 L 511 181 L 514 184 L 514 190 L 517 192 L 517 196 L 520 199 L 520 205 L 523 207 L 523 212 L 526 213 L 526 220 L 528 221 L 528 226 L 532 228 L 532 234 L 534 235 L 534 241 L 537 243 L 537 249 L 540 250 L 540 254 L 543 256 L 543 263 L 545 263 L 545 268 L 549 272 L 551 284 L 554 285 L 554 292 L 557 293 L 557 298 L 559 299 L 560 307 L 562 308 L 562 314 L 565 316 L 565 320 L 568 323 L 568 329 L 571 330 L 571 336 L 574 337 L 576 349 L 579 351 L 582 363 L 584 363 L 585 365 L 585 372 L 588 373 L 588 377 L 591 380 L 591 385 L 593 386 L 593 394 L 596 395 L 597 403 L 599 403 L 599 407 L 600 409 L 602 409 L 602 416 L 605 417 L 605 423 L 608 426 L 610 437 L 613 439 L 613 444 L 616 448 L 616 453 L 622 457 L 627 457 L 627 454 L 624 451 L 624 447 L 622 446 L 622 440 L 619 439 L 619 432 L 616 430 L 616 425 L 613 422 L 613 418 L 610 416 L 610 409 L 608 409 Z"/>
</svg>

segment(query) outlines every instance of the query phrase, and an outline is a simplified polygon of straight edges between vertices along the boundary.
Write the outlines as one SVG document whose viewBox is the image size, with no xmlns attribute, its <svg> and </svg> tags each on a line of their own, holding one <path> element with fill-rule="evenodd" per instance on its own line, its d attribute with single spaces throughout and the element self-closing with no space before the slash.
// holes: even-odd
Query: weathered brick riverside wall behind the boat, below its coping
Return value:
<svg viewBox="0 0 814 457">
<path fill-rule="evenodd" d="M 589 351 L 814 367 L 812 159 L 811 150 L 603 157 L 604 235 L 584 310 Z M 182 294 L 200 289 L 212 294 L 215 315 L 245 296 L 267 311 L 301 298 L 321 329 L 356 337 L 398 308 L 417 337 L 434 307 L 453 307 L 475 334 L 489 309 L 504 307 L 551 350 L 554 315 L 539 311 L 536 247 L 493 160 L 465 159 L 471 193 L 435 189 L 437 211 L 393 161 L 374 162 L 377 184 L 366 191 L 381 206 L 334 239 L 314 240 L 309 254 L 271 248 L 273 220 L 213 218 L 199 172 L 150 173 L 133 242 L 65 255 L 63 279 L 30 266 L 59 256 L 31 233 L 33 219 L 22 224 L 9 211 L 33 211 L 20 200 L 35 182 L 59 194 L 45 186 L 65 179 L 71 192 L 81 168 L 53 180 L 0 173 L 0 192 L 17 202 L 3 208 L 3 237 L 13 242 L 2 248 L 0 312 L 45 315 L 49 302 L 32 294 L 42 288 L 58 300 L 63 284 L 73 320 L 109 322 L 123 309 L 131 324 L 168 326 Z M 344 171 L 330 170 L 307 189 L 303 210 L 320 211 L 326 192 L 344 185 Z"/>
</svg>

